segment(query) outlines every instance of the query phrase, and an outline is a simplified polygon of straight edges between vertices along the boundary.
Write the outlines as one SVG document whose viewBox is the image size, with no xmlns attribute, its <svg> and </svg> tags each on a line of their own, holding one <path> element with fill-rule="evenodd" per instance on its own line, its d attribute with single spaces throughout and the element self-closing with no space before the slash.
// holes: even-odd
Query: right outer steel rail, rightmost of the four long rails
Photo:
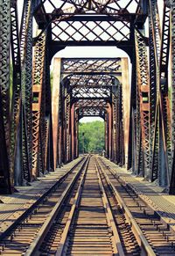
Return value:
<svg viewBox="0 0 175 256">
<path fill-rule="evenodd" d="M 116 201 L 118 201 L 120 207 L 123 209 L 124 216 L 126 217 L 128 223 L 130 223 L 131 230 L 133 231 L 135 237 L 137 238 L 138 245 L 140 245 L 141 255 L 156 256 L 156 253 L 152 250 L 151 245 L 148 243 L 147 239 L 144 237 L 144 233 L 138 226 L 134 216 L 132 216 L 132 214 L 130 213 L 130 209 L 127 207 L 126 203 L 123 201 L 121 195 L 117 192 L 116 187 L 114 187 L 114 185 L 110 181 L 108 175 L 104 171 L 98 159 L 97 159 L 97 162 L 99 163 L 102 173 L 116 197 Z"/>
</svg>

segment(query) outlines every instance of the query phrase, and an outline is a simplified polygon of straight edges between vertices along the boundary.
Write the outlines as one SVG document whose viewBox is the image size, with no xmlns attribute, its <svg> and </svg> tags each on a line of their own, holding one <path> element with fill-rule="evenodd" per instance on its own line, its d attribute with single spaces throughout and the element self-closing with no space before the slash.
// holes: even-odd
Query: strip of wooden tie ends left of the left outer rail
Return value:
<svg viewBox="0 0 175 256">
<path fill-rule="evenodd" d="M 73 178 L 76 179 L 76 174 L 79 173 L 79 171 L 76 172 L 76 174 L 74 175 L 74 173 L 72 173 L 74 171 L 74 169 L 78 168 L 79 165 L 85 165 L 87 161 L 87 158 L 85 157 L 82 157 L 81 160 L 79 160 L 75 165 L 73 165 L 73 167 L 70 169 L 70 171 L 66 172 L 51 188 L 49 188 L 45 194 L 43 194 L 41 196 L 41 198 L 38 199 L 38 201 L 36 201 L 32 206 L 31 208 L 27 209 L 25 211 L 25 213 L 20 216 L 18 218 L 17 221 L 15 221 L 12 225 L 11 225 L 11 228 L 8 229 L 7 231 L 4 232 L 3 234 L 3 239 L 1 239 L 0 241 L 0 245 L 2 246 L 2 251 L 1 253 L 6 253 L 5 251 L 7 250 L 10 250 L 8 248 L 10 248 L 11 246 L 12 247 L 16 247 L 17 248 L 17 251 L 19 253 L 22 253 L 22 255 L 25 254 L 27 248 L 30 246 L 31 244 L 31 241 L 33 239 L 25 239 L 23 236 L 21 238 L 24 238 L 25 239 L 25 244 L 22 245 L 21 244 L 21 241 L 20 241 L 20 233 L 21 232 L 24 232 L 24 230 L 27 229 L 27 227 L 25 225 L 28 225 L 29 223 L 31 223 L 31 227 L 33 227 L 33 229 L 35 229 L 35 232 L 38 233 L 38 231 L 42 228 L 42 225 L 45 223 L 45 219 L 46 219 L 46 216 L 45 216 L 45 213 L 42 213 L 42 210 L 41 210 L 41 215 L 40 214 L 38 215 L 37 213 L 39 213 L 39 210 L 40 208 L 45 208 L 45 201 L 48 201 L 48 200 L 51 200 L 53 199 L 52 203 L 47 206 L 46 208 L 46 211 L 48 213 L 48 216 L 50 216 L 50 212 L 52 211 L 52 208 L 54 207 L 54 205 L 56 204 L 56 197 L 55 197 L 55 193 L 62 193 L 61 192 L 61 186 L 64 187 L 64 183 L 66 182 L 67 183 L 67 180 L 69 175 L 73 175 Z M 81 168 L 80 168 L 81 169 Z M 79 169 L 79 170 L 80 170 Z M 72 178 L 70 176 L 70 178 Z M 69 178 L 69 179 L 70 179 Z M 66 185 L 66 187 L 68 187 L 68 183 Z M 52 195 L 53 193 L 53 195 Z M 51 209 L 50 209 L 51 208 Z M 46 213 L 46 214 L 47 214 Z M 37 216 L 37 215 L 38 216 Z M 38 218 L 38 227 L 36 227 L 36 225 L 32 226 L 33 223 L 32 223 L 32 219 L 36 219 Z M 35 222 L 35 221 L 34 221 Z M 40 226 L 39 226 L 40 225 Z M 35 238 L 35 232 L 33 232 L 33 235 L 32 235 L 32 238 Z M 16 239 L 16 234 L 19 234 L 18 236 L 18 239 Z M 13 239 L 14 238 L 14 239 Z M 20 245 L 22 247 L 20 247 Z M 11 247 L 11 248 L 12 248 Z M 21 252 L 20 252 L 21 251 Z M 15 252 L 16 253 L 16 252 Z"/>
</svg>

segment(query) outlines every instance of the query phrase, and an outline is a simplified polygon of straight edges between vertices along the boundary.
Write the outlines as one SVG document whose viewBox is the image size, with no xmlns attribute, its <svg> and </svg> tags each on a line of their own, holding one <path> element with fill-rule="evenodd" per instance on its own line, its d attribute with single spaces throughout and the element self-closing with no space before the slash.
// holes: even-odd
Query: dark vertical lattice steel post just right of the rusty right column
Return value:
<svg viewBox="0 0 175 256">
<path fill-rule="evenodd" d="M 159 61 L 160 61 L 160 21 L 158 15 L 158 6 L 157 1 L 150 2 L 150 44 L 151 44 L 151 128 L 150 134 L 154 137 L 154 140 L 151 141 L 150 149 L 150 164 L 151 164 L 151 180 L 159 178 L 159 167 L 161 161 L 159 158 L 160 150 L 160 128 L 162 127 L 159 122 L 161 115 L 159 114 Z M 157 72 L 153 72 L 157 70 Z M 156 85 L 156 86 L 155 86 Z"/>
</svg>

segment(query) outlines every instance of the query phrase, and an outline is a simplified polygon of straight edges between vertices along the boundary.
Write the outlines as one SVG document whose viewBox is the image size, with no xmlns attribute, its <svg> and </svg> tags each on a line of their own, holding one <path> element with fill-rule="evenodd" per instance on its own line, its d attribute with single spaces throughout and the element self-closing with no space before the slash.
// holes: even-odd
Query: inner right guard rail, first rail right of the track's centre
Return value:
<svg viewBox="0 0 175 256">
<path fill-rule="evenodd" d="M 112 214 L 112 210 L 109 206 L 109 200 L 108 200 L 107 194 L 105 192 L 105 188 L 102 184 L 102 178 L 101 178 L 101 175 L 100 175 L 100 172 L 99 172 L 99 168 L 100 168 L 100 165 L 96 161 L 96 171 L 97 171 L 97 176 L 98 176 L 98 179 L 99 179 L 99 186 L 100 186 L 101 191 L 102 191 L 102 202 L 103 202 L 103 206 L 104 206 L 105 211 L 106 211 L 106 216 L 107 216 L 109 226 L 111 227 L 111 229 L 113 231 L 113 239 L 114 239 L 114 245 L 115 245 L 115 248 L 114 248 L 115 255 L 124 256 L 125 254 L 123 252 L 123 246 L 122 246 L 121 239 L 119 237 L 118 231 L 116 229 L 116 223 L 115 223 L 115 220 L 114 220 L 114 217 L 113 217 L 113 214 Z"/>
</svg>

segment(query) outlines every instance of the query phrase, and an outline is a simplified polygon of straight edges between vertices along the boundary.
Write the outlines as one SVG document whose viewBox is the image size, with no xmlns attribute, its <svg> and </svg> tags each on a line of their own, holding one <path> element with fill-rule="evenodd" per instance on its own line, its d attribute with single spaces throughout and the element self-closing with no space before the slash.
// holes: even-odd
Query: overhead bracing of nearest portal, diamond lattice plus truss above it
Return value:
<svg viewBox="0 0 175 256">
<path fill-rule="evenodd" d="M 52 41 L 58 44 L 116 45 L 130 41 L 136 13 L 144 17 L 142 1 L 46 0 L 36 9 L 35 18 L 41 26 L 50 26 Z"/>
</svg>

